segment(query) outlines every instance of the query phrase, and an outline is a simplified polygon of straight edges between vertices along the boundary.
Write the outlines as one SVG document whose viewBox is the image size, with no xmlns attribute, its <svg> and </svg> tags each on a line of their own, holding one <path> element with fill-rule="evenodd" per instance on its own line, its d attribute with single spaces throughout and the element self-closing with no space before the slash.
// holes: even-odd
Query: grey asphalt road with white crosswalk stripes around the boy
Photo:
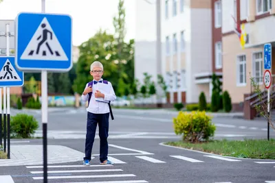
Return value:
<svg viewBox="0 0 275 183">
<path fill-rule="evenodd" d="M 167 147 L 162 143 L 178 141 L 173 132 L 175 114 L 113 110 L 110 120 L 109 157 L 114 166 L 98 167 L 99 139 L 94 143 L 93 166 L 83 167 L 81 161 L 49 164 L 48 182 L 105 182 L 135 180 L 138 182 L 266 182 L 275 181 L 275 160 L 248 160 L 203 154 L 197 151 Z M 41 114 L 33 113 L 41 121 Z M 83 152 L 85 145 L 83 109 L 50 112 L 48 144 L 62 145 Z M 266 121 L 214 118 L 215 138 L 266 138 Z M 41 129 L 40 129 L 41 130 Z M 270 130 L 271 138 L 275 137 Z M 41 132 L 36 134 L 41 136 Z M 28 145 L 41 145 L 42 139 L 30 139 Z M 12 145 L 22 145 L 13 143 Z M 41 152 L 42 153 L 42 152 Z M 64 152 L 65 154 L 66 152 Z M 262 163 L 259 163 L 262 162 Z M 263 163 L 265 162 L 265 163 Z M 266 163 L 269 162 L 269 163 Z M 50 166 L 57 167 L 50 167 Z M 43 182 L 41 167 L 0 167 L 1 175 L 10 175 L 14 182 Z M 7 182 L 10 183 L 10 182 Z M 133 182 L 134 183 L 134 182 Z"/>
</svg>

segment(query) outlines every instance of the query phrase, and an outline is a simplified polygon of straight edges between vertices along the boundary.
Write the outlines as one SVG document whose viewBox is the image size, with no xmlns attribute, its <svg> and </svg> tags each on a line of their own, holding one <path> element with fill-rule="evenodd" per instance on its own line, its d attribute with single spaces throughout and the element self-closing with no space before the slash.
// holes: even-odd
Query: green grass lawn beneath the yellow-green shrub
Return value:
<svg viewBox="0 0 275 183">
<path fill-rule="evenodd" d="M 244 141 L 221 140 L 195 144 L 177 141 L 165 144 L 222 156 L 275 160 L 275 139 L 270 139 L 270 141 L 250 139 L 245 139 Z"/>
</svg>

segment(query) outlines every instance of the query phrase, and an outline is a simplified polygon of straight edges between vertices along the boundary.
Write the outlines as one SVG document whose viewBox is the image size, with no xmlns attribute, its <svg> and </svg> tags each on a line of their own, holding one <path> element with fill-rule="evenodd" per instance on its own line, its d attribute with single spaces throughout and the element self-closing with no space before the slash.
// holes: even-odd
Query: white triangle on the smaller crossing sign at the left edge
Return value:
<svg viewBox="0 0 275 183">
<path fill-rule="evenodd" d="M 0 82 L 21 82 L 17 70 L 14 69 L 10 60 L 6 60 L 0 71 Z"/>
</svg>

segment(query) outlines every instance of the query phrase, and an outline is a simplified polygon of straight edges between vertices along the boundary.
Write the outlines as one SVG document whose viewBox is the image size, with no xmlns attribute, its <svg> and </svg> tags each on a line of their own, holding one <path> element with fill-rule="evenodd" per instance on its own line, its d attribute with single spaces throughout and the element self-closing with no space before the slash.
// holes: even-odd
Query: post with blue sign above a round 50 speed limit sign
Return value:
<svg viewBox="0 0 275 183">
<path fill-rule="evenodd" d="M 270 86 L 272 84 L 272 45 L 263 46 L 264 69 L 263 83 L 267 88 L 267 140 L 270 141 Z"/>
</svg>

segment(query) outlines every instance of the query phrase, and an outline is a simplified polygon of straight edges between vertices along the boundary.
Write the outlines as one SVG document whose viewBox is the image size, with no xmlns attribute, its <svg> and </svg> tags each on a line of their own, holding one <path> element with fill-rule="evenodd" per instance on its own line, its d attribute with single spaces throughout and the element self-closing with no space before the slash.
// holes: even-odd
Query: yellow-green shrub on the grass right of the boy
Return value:
<svg viewBox="0 0 275 183">
<path fill-rule="evenodd" d="M 211 119 L 205 111 L 179 112 L 177 118 L 173 118 L 175 134 L 183 134 L 183 140 L 191 143 L 197 143 L 202 139 L 207 141 L 214 136 L 216 130 Z"/>
</svg>

